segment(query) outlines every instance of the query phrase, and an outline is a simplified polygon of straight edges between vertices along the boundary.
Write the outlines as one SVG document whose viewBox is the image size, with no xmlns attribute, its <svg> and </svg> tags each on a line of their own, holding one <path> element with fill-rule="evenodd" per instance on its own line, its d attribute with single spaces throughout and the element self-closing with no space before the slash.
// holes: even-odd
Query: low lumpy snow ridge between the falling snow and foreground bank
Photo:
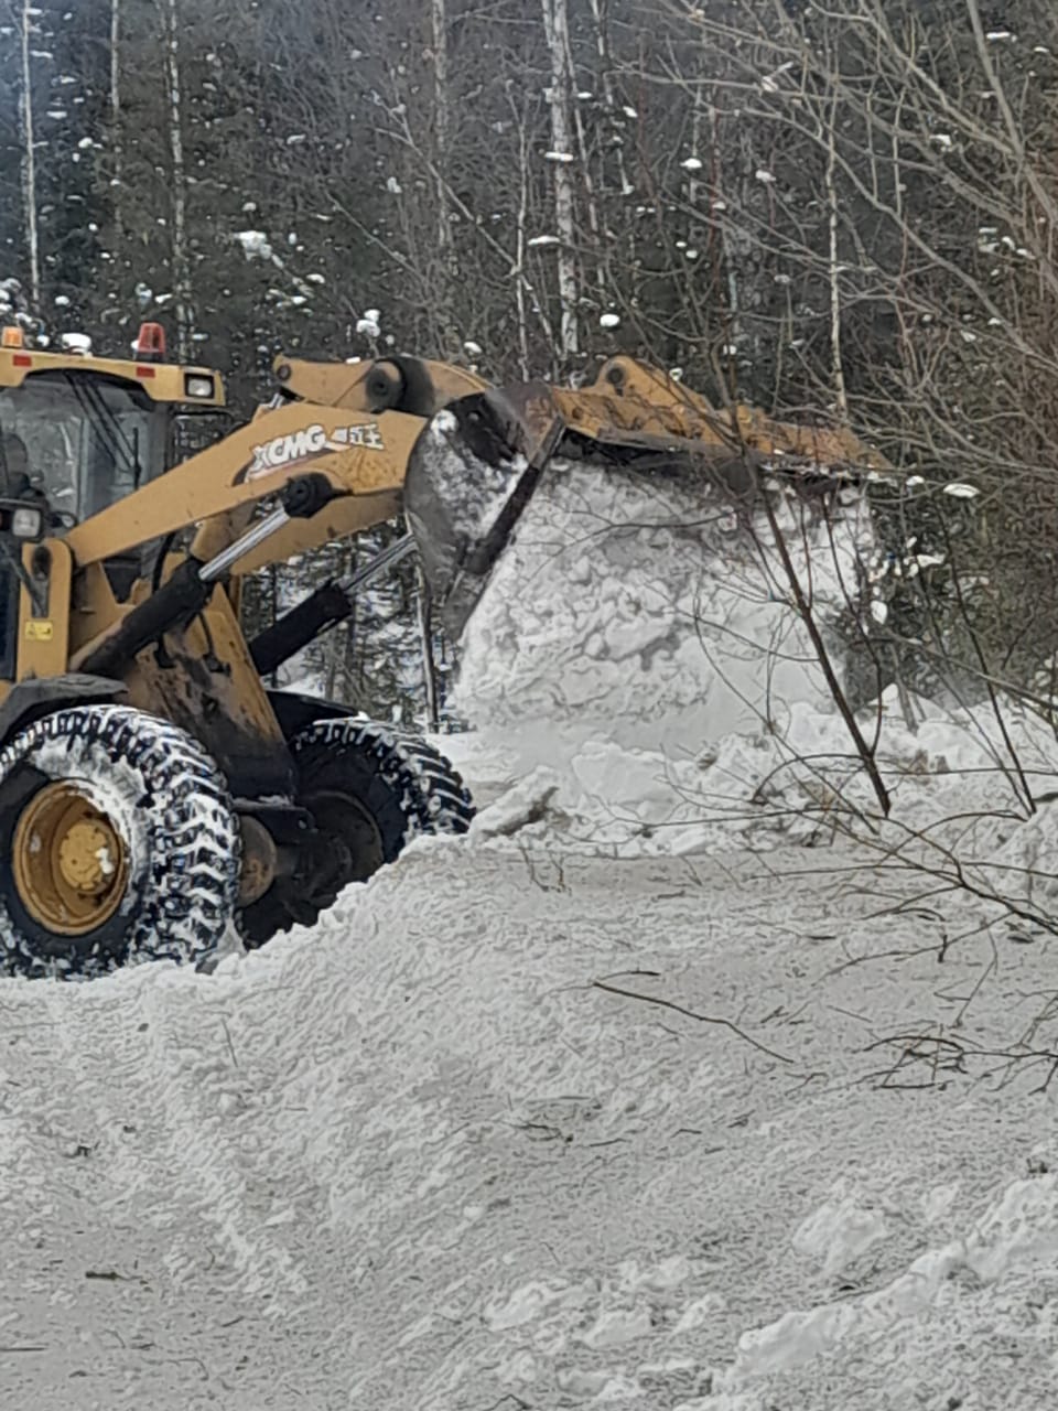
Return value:
<svg viewBox="0 0 1058 1411">
<path fill-rule="evenodd" d="M 1058 864 L 1058 813 L 1044 811 L 1024 835 L 1019 770 L 1045 796 L 1058 787 L 1058 744 L 1031 713 L 1004 706 L 1011 753 L 980 711 L 944 711 L 916 701 L 908 728 L 890 690 L 859 717 L 876 746 L 892 800 L 879 803 L 845 721 L 837 711 L 793 703 L 783 734 L 731 734 L 697 755 L 618 745 L 526 724 L 516 732 L 480 729 L 437 741 L 467 779 L 481 810 L 477 838 L 556 842 L 614 856 L 722 851 L 732 844 L 773 848 L 783 841 L 829 841 L 841 831 L 879 847 L 911 832 L 937 842 L 995 849 L 1010 838 L 1011 865 Z M 976 816 L 976 821 L 975 821 Z M 999 816 L 999 817 L 996 817 Z"/>
</svg>

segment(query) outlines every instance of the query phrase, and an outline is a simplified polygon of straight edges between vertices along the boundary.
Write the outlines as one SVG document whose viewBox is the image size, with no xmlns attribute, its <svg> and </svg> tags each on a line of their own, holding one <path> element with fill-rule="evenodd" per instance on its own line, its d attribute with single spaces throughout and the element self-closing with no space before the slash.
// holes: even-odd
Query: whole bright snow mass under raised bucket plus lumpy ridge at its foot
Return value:
<svg viewBox="0 0 1058 1411">
<path fill-rule="evenodd" d="M 848 498 L 831 521 L 777 498 L 791 567 L 838 667 L 835 624 L 863 610 L 855 586 L 872 553 L 865 502 Z M 475 835 L 686 854 L 732 835 L 818 841 L 852 811 L 876 814 L 791 597 L 762 514 L 746 523 L 701 481 L 559 464 L 461 642 L 454 703 L 473 732 L 440 744 L 484 806 Z M 1052 732 L 1003 708 L 1021 766 L 1045 789 Z M 899 820 L 887 845 L 903 844 L 900 827 L 1023 811 L 1014 758 L 987 711 L 901 703 L 889 689 L 859 725 L 877 742 Z"/>
</svg>

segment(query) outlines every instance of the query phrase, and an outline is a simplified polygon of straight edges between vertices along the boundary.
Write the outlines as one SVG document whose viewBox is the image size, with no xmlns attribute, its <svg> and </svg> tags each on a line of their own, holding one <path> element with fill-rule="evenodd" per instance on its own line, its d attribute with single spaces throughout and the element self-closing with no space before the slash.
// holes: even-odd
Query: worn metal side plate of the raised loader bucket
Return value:
<svg viewBox="0 0 1058 1411">
<path fill-rule="evenodd" d="M 460 398 L 423 429 L 405 476 L 403 509 L 432 598 L 453 639 L 474 611 L 564 429 L 542 382 Z"/>
</svg>

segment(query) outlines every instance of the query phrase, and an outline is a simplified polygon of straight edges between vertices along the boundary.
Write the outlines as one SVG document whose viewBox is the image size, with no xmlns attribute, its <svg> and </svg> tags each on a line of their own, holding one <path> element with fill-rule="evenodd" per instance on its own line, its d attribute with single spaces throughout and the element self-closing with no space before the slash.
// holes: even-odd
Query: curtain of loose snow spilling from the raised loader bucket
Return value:
<svg viewBox="0 0 1058 1411">
<path fill-rule="evenodd" d="M 780 504 L 821 621 L 856 590 L 859 497 L 828 523 Z M 456 704 L 473 725 L 546 720 L 657 751 L 782 729 L 825 683 L 763 514 L 746 523 L 704 478 L 553 463 L 461 642 Z"/>
</svg>

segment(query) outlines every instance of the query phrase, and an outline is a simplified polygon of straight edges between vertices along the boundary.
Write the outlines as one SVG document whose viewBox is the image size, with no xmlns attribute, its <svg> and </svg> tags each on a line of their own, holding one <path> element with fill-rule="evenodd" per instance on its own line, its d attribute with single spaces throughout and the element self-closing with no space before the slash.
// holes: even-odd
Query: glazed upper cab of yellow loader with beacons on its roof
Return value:
<svg viewBox="0 0 1058 1411">
<path fill-rule="evenodd" d="M 61 533 L 157 480 L 189 453 L 186 423 L 223 432 L 224 387 L 209 368 L 165 363 L 158 325 L 135 358 L 0 346 L 0 495 L 44 498 Z"/>
</svg>

